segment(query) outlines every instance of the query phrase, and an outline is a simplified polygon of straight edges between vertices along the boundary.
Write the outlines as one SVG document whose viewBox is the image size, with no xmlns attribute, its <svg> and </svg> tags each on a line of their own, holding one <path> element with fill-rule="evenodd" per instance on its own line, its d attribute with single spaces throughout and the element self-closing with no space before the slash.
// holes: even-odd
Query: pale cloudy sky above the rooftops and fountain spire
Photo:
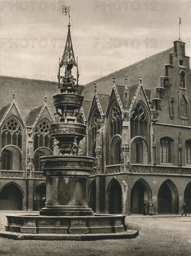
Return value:
<svg viewBox="0 0 191 256">
<path fill-rule="evenodd" d="M 79 84 L 173 47 L 179 16 L 191 56 L 191 1 L 1 0 L 0 75 L 57 81 L 68 29 L 64 4 L 70 6 Z"/>
</svg>

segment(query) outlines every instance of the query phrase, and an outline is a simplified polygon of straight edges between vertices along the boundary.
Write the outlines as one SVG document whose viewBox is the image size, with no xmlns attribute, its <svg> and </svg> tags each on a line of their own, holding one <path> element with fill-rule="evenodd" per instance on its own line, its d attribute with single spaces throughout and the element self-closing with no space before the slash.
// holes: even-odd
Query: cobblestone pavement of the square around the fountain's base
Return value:
<svg viewBox="0 0 191 256">
<path fill-rule="evenodd" d="M 21 213 L 21 212 L 20 212 Z M 23 212 L 22 212 L 23 213 Z M 8 213 L 10 214 L 10 212 Z M 0 215 L 1 228 L 6 223 Z M 191 216 L 126 217 L 134 239 L 101 241 L 12 240 L 0 237 L 1 256 L 191 256 Z M 2 231 L 2 229 L 1 229 Z"/>
</svg>

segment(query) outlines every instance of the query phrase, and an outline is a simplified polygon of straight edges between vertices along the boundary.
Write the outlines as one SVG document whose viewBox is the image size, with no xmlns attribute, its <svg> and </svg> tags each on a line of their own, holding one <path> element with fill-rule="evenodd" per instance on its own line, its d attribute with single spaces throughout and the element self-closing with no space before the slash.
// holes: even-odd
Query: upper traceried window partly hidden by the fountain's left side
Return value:
<svg viewBox="0 0 191 256">
<path fill-rule="evenodd" d="M 53 137 L 48 134 L 49 123 L 46 120 L 40 121 L 34 133 L 34 150 L 41 147 L 53 150 Z"/>
</svg>

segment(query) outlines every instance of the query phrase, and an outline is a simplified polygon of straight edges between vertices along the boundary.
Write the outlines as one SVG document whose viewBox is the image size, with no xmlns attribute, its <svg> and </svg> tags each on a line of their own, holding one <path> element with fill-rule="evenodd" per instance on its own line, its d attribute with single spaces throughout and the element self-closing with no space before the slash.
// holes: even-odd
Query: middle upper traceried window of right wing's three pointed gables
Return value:
<svg viewBox="0 0 191 256">
<path fill-rule="evenodd" d="M 110 134 L 111 138 L 114 135 L 121 135 L 122 133 L 122 113 L 117 102 L 114 102 L 112 107 L 112 115 L 110 119 Z"/>
</svg>

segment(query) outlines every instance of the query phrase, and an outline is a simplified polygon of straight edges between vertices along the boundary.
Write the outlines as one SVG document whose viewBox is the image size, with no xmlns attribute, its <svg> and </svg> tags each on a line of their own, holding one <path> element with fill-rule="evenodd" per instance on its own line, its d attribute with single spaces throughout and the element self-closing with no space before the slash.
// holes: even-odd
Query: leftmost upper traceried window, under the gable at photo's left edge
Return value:
<svg viewBox="0 0 191 256">
<path fill-rule="evenodd" d="M 3 126 L 1 134 L 1 147 L 14 145 L 22 149 L 22 132 L 19 122 L 15 117 L 11 117 Z"/>
</svg>

